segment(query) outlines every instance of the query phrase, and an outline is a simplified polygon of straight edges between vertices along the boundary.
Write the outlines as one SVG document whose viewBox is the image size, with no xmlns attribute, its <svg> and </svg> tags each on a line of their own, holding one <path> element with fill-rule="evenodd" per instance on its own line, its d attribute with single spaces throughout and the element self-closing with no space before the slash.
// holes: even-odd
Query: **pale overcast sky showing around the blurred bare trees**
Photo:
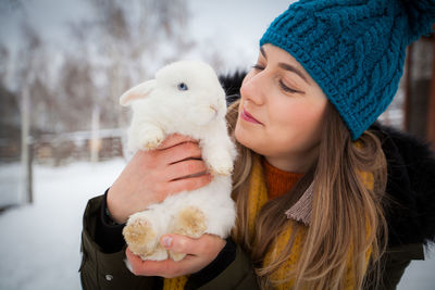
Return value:
<svg viewBox="0 0 435 290">
<path fill-rule="evenodd" d="M 42 39 L 54 47 L 69 47 L 67 23 L 91 16 L 91 8 L 84 0 L 27 0 L 25 9 L 16 9 L 16 0 L 0 1 L 0 41 L 11 50 L 20 46 L 20 22 L 26 18 Z M 189 33 L 200 41 L 222 46 L 233 56 L 233 65 L 257 58 L 258 41 L 268 25 L 291 1 L 286 0 L 188 0 L 191 18 Z M 215 41 L 224 39 L 225 41 Z M 221 47 L 219 48 L 221 49 Z M 244 58 L 240 59 L 240 53 Z"/>
</svg>

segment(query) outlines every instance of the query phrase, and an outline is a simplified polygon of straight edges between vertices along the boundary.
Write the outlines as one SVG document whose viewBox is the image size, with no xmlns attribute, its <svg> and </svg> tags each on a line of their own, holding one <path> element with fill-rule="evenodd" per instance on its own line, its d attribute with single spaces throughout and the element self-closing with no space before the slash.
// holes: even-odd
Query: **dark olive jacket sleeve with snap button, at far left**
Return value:
<svg viewBox="0 0 435 290">
<path fill-rule="evenodd" d="M 99 289 L 159 289 L 160 280 L 156 277 L 138 277 L 124 264 L 125 248 L 113 253 L 105 253 L 96 242 L 98 219 L 101 218 L 103 196 L 89 200 L 82 231 L 80 281 L 85 290 Z"/>
</svg>

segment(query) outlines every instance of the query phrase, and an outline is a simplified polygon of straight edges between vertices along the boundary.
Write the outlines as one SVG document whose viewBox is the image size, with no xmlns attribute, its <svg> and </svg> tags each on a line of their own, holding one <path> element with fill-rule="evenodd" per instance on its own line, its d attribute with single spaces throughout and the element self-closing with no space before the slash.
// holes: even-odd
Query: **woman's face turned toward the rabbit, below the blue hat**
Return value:
<svg viewBox="0 0 435 290">
<path fill-rule="evenodd" d="M 236 139 L 281 169 L 306 172 L 327 104 L 318 84 L 288 52 L 264 45 L 240 96 Z"/>
</svg>

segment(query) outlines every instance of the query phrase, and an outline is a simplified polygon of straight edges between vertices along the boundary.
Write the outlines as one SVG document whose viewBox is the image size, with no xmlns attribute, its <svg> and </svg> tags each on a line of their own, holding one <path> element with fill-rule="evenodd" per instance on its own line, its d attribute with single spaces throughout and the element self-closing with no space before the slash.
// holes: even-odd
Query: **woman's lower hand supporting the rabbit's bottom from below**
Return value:
<svg viewBox="0 0 435 290">
<path fill-rule="evenodd" d="M 166 249 L 177 253 L 186 253 L 182 261 L 171 259 L 164 261 L 142 261 L 127 250 L 125 251 L 132 272 L 136 276 L 161 276 L 174 278 L 199 272 L 209 265 L 225 247 L 226 241 L 217 236 L 202 235 L 192 239 L 181 235 L 164 235 L 160 243 Z"/>
</svg>

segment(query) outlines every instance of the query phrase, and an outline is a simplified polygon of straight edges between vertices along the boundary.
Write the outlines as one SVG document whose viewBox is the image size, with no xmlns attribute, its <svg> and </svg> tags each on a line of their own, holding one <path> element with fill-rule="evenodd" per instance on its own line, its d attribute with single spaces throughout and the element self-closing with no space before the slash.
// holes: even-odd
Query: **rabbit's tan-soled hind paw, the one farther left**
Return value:
<svg viewBox="0 0 435 290">
<path fill-rule="evenodd" d="M 154 253 L 158 237 L 151 222 L 145 216 L 140 214 L 132 216 L 123 229 L 123 235 L 129 250 L 140 255 L 142 260 Z"/>
</svg>

